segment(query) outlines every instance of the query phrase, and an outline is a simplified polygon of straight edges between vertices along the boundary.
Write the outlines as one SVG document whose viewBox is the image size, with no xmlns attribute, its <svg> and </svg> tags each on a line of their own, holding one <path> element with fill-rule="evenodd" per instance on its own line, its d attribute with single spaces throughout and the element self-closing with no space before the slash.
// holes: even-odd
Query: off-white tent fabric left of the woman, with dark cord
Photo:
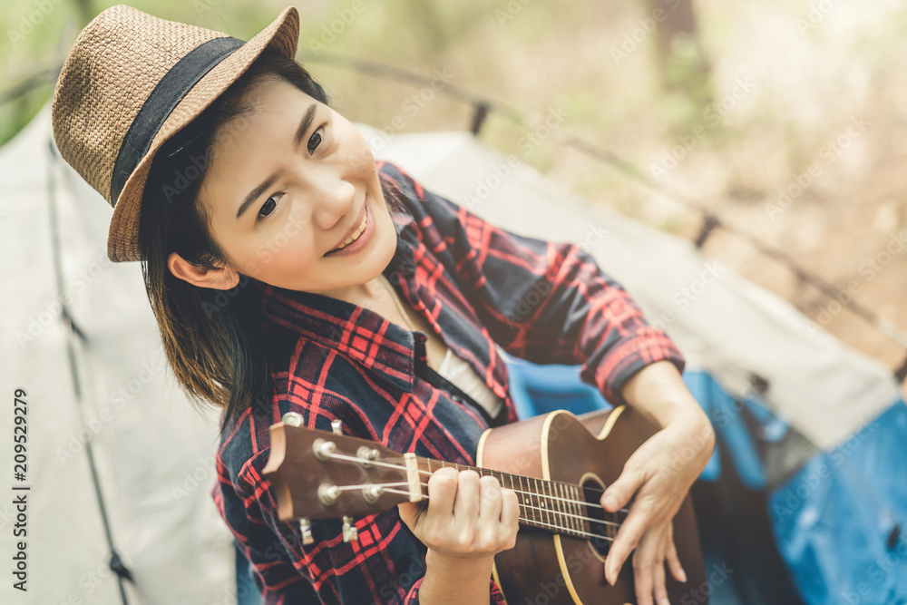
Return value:
<svg viewBox="0 0 907 605">
<path fill-rule="evenodd" d="M 139 264 L 107 259 L 110 206 L 58 158 L 63 296 L 86 337 L 74 356 L 77 405 L 54 274 L 49 109 L 0 149 L 0 602 L 122 602 L 83 446 L 91 439 L 113 539 L 135 578 L 129 602 L 231 605 L 232 535 L 210 498 L 218 415 L 198 413 L 176 384 Z M 8 571 L 16 388 L 28 394 L 27 592 Z"/>
</svg>

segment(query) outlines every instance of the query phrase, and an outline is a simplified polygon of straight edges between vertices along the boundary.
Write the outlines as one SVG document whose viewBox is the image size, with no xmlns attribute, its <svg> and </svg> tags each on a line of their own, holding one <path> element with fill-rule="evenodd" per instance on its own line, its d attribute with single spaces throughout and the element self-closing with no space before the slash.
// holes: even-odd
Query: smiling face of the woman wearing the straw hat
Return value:
<svg viewBox="0 0 907 605">
<path fill-rule="evenodd" d="M 221 125 L 199 191 L 214 239 L 251 278 L 348 298 L 396 249 L 372 152 L 353 124 L 283 80 L 259 80 L 247 98 L 254 108 Z"/>
</svg>

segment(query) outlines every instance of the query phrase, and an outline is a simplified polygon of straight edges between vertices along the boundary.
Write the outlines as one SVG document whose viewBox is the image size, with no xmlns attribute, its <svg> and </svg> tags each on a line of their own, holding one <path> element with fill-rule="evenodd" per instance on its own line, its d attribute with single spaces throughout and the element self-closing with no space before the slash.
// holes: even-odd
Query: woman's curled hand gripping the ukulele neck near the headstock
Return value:
<svg viewBox="0 0 907 605">
<path fill-rule="evenodd" d="M 519 529 L 516 493 L 497 478 L 447 467 L 428 480 L 428 506 L 398 504 L 400 518 L 434 561 L 487 558 L 513 548 Z"/>
</svg>

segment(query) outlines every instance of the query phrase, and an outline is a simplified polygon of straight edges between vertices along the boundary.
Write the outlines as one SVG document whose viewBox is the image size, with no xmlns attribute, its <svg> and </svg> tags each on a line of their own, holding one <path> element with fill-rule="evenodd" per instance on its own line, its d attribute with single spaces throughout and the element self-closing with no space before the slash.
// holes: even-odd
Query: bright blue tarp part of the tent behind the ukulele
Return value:
<svg viewBox="0 0 907 605">
<path fill-rule="evenodd" d="M 582 414 L 610 406 L 598 390 L 580 382 L 579 366 L 535 366 L 513 358 L 508 358 L 508 364 L 521 418 L 555 409 Z M 789 425 L 756 397 L 727 394 L 707 373 L 686 372 L 684 382 L 717 434 L 716 451 L 699 481 L 722 482 L 727 473 L 733 473 L 734 482 L 747 490 L 766 490 L 757 441 L 780 441 Z M 732 463 L 725 473 L 722 459 Z M 806 603 L 907 603 L 907 406 L 903 401 L 893 402 L 862 430 L 854 427 L 853 436 L 831 452 L 815 454 L 766 497 L 775 547 Z M 708 561 L 727 559 L 727 553 L 704 554 L 707 568 Z M 730 591 L 712 595 L 716 605 L 735 599 Z"/>
</svg>

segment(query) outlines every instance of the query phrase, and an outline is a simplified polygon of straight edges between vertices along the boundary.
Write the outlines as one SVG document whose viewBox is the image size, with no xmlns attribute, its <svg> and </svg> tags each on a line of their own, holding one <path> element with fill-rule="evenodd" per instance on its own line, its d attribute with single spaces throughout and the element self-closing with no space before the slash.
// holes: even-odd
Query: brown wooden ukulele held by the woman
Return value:
<svg viewBox="0 0 907 605">
<path fill-rule="evenodd" d="M 493 563 L 493 579 L 511 605 L 636 602 L 632 565 L 624 564 L 611 586 L 603 564 L 628 509 L 608 512 L 600 504 L 630 454 L 658 430 L 632 408 L 580 416 L 558 410 L 488 429 L 479 440 L 476 466 L 398 454 L 342 434 L 338 420 L 333 434 L 301 421 L 289 413 L 270 427 L 263 474 L 277 494 L 280 520 L 300 520 L 304 543 L 313 542 L 312 519 L 342 516 L 344 540 L 350 542 L 356 540 L 354 516 L 427 500 L 427 478 L 439 468 L 472 469 L 497 477 L 520 503 L 516 545 L 498 552 Z M 689 495 L 673 523 L 688 581 L 678 582 L 666 570 L 668 599 L 707 603 Z"/>
</svg>

